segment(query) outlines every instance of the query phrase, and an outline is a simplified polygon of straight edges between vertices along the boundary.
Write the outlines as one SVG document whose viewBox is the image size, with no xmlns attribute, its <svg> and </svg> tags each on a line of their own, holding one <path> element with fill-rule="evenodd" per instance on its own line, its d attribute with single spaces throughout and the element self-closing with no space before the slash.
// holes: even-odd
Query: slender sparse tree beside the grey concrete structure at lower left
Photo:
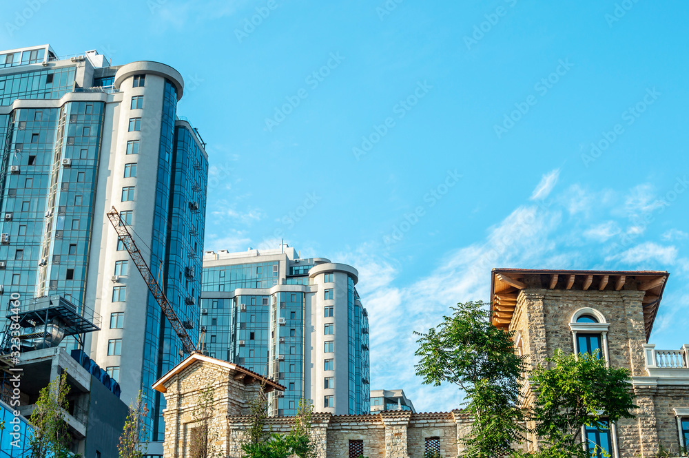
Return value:
<svg viewBox="0 0 689 458">
<path fill-rule="evenodd" d="M 69 409 L 69 393 L 67 371 L 63 371 L 39 392 L 39 399 L 29 418 L 34 428 L 29 439 L 33 458 L 72 456 L 72 435 L 65 421 L 65 413 Z"/>
</svg>

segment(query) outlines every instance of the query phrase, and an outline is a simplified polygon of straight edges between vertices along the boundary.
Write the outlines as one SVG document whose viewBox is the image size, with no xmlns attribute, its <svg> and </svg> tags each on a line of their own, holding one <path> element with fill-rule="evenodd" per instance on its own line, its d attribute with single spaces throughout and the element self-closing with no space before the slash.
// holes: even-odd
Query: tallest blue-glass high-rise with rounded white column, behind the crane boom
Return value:
<svg viewBox="0 0 689 458">
<path fill-rule="evenodd" d="M 164 399 L 150 387 L 183 346 L 105 213 L 120 212 L 196 342 L 208 159 L 177 116 L 183 87 L 157 62 L 59 57 L 50 45 L 0 51 L 1 297 L 61 295 L 100 318 L 84 350 L 125 402 L 143 389 L 154 442 Z"/>
</svg>

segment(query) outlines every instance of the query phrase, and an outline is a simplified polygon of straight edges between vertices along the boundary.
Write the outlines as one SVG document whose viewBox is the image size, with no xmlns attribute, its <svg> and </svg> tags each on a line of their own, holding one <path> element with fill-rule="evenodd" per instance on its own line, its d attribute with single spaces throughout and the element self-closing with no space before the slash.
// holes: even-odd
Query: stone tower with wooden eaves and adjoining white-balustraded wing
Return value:
<svg viewBox="0 0 689 458">
<path fill-rule="evenodd" d="M 517 351 L 531 365 L 555 349 L 599 350 L 606 364 L 628 368 L 639 409 L 635 419 L 583 437 L 615 458 L 677 452 L 689 440 L 689 344 L 658 350 L 649 344 L 668 280 L 665 271 L 494 269 L 493 324 L 515 331 Z M 689 340 L 689 339 L 687 339 Z M 530 392 L 531 388 L 527 387 Z M 531 437 L 530 448 L 537 447 Z"/>
</svg>

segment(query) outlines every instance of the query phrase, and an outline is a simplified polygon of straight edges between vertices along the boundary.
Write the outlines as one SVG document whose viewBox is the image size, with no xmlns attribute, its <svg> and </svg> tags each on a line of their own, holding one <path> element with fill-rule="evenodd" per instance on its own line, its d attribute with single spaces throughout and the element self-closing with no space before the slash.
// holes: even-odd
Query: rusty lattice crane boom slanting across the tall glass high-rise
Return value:
<svg viewBox="0 0 689 458">
<path fill-rule="evenodd" d="M 177 318 L 177 314 L 174 313 L 172 304 L 170 304 L 165 297 L 163 289 L 161 289 L 158 281 L 156 278 L 154 278 L 151 269 L 148 268 L 145 260 L 143 260 L 141 251 L 139 251 L 139 249 L 136 247 L 134 238 L 132 238 L 132 234 L 130 234 L 130 231 L 127 229 L 127 225 L 120 220 L 119 211 L 117 211 L 115 207 L 112 207 L 112 209 L 108 211 L 106 215 L 110 220 L 112 227 L 115 228 L 117 236 L 120 240 L 122 240 L 125 249 L 127 249 L 127 251 L 130 253 L 132 261 L 134 261 L 134 265 L 136 265 L 138 271 L 141 272 L 141 276 L 143 276 L 143 280 L 148 285 L 148 289 L 150 289 L 151 293 L 153 293 L 153 297 L 156 298 L 158 305 L 161 306 L 163 314 L 165 314 L 167 320 L 170 322 L 170 324 L 172 324 L 172 329 L 174 329 L 174 331 L 177 333 L 177 336 L 182 341 L 185 351 L 187 353 L 196 353 L 196 347 L 194 346 L 194 342 L 192 342 L 192 337 L 189 337 L 189 333 L 187 333 L 187 330 L 184 328 L 182 322 L 180 322 L 179 318 Z"/>
</svg>

